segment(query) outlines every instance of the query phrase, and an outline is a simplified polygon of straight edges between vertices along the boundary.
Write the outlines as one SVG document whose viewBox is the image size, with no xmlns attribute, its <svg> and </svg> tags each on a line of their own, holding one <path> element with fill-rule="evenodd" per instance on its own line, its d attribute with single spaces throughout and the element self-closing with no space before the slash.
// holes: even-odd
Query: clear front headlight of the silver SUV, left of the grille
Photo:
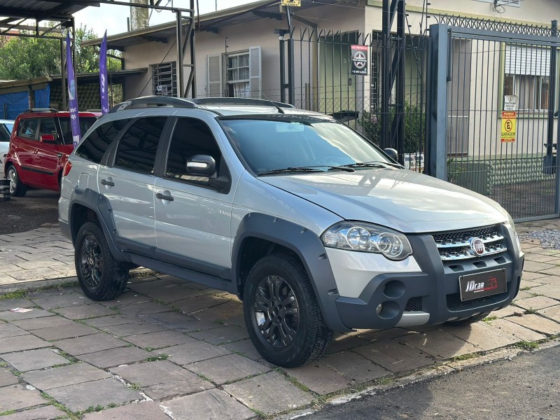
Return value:
<svg viewBox="0 0 560 420">
<path fill-rule="evenodd" d="M 337 223 L 323 232 L 321 240 L 329 248 L 380 253 L 389 260 L 404 260 L 412 255 L 405 235 L 371 223 Z"/>
</svg>

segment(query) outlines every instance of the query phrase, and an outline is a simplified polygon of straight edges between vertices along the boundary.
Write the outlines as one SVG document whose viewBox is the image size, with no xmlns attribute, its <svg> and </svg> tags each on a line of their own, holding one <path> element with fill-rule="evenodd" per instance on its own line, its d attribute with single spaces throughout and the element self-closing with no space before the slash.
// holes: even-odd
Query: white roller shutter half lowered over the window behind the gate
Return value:
<svg viewBox="0 0 560 420">
<path fill-rule="evenodd" d="M 505 73 L 548 76 L 550 50 L 547 48 L 505 45 Z"/>
</svg>

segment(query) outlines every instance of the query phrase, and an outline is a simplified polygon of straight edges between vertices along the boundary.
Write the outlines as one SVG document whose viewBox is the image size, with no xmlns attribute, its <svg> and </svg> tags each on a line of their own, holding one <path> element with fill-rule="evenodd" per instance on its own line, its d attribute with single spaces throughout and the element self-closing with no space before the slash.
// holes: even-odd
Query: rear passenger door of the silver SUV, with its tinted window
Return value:
<svg viewBox="0 0 560 420">
<path fill-rule="evenodd" d="M 166 116 L 132 121 L 116 146 L 109 166 L 99 167 L 99 193 L 111 205 L 121 249 L 152 256 L 154 235 L 154 166 Z"/>
</svg>

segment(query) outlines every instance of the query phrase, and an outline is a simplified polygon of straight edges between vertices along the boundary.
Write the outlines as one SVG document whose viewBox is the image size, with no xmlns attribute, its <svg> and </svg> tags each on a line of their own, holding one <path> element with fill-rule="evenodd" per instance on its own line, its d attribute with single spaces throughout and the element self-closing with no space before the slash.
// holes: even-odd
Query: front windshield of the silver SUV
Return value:
<svg viewBox="0 0 560 420">
<path fill-rule="evenodd" d="M 343 170 L 345 165 L 365 162 L 392 165 L 377 147 L 328 118 L 222 117 L 221 123 L 255 174 L 316 172 L 305 170 L 308 168 Z M 370 166 L 351 167 L 359 170 Z"/>
</svg>

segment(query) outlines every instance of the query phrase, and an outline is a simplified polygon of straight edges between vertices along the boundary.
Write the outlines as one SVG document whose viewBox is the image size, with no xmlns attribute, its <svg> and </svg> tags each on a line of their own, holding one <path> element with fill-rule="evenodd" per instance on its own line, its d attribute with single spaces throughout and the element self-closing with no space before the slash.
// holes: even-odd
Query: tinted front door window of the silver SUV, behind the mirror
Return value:
<svg viewBox="0 0 560 420">
<path fill-rule="evenodd" d="M 187 160 L 193 155 L 211 155 L 220 165 L 221 153 L 209 127 L 200 120 L 179 118 L 173 130 L 167 155 L 167 178 L 207 183 L 207 176 L 193 176 L 187 172 Z"/>
</svg>

